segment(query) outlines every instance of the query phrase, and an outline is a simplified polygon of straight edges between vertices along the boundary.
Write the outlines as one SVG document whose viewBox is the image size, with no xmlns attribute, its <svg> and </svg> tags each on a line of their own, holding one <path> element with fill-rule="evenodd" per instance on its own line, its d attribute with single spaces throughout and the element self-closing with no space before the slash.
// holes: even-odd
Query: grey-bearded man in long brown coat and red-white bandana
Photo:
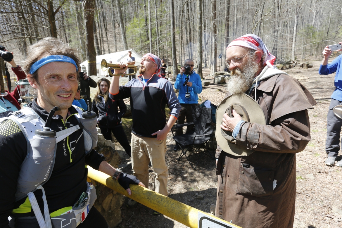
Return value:
<svg viewBox="0 0 342 228">
<path fill-rule="evenodd" d="M 245 121 L 235 110 L 231 117 L 217 116 L 221 129 L 247 154 L 233 155 L 234 149 L 228 153 L 218 145 L 215 216 L 244 228 L 292 228 L 295 153 L 310 141 L 307 109 L 316 102 L 298 80 L 273 66 L 276 57 L 258 36 L 239 37 L 226 52 L 231 70 L 226 97 L 248 95 L 259 104 L 266 124 Z"/>
</svg>

